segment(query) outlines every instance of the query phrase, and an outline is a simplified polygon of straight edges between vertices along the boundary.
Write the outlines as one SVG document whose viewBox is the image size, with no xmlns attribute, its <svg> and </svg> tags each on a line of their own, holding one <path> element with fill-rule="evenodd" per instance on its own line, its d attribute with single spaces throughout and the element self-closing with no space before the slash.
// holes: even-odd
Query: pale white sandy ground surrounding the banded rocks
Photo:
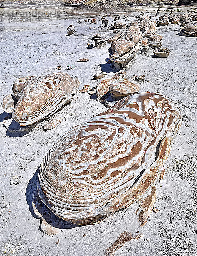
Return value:
<svg viewBox="0 0 197 256">
<path fill-rule="evenodd" d="M 137 14 L 130 12 L 129 17 Z M 80 89 L 85 84 L 96 85 L 99 81 L 92 81 L 93 75 L 101 71 L 99 64 L 108 67 L 105 59 L 108 58 L 110 44 L 102 49 L 86 49 L 87 41 L 93 33 L 100 32 L 109 38 L 113 32 L 100 26 L 102 15 L 94 25 L 84 22 L 89 16 L 71 12 L 65 20 L 32 19 L 32 23 L 23 24 L 8 23 L 7 18 L 1 17 L 0 99 L 11 92 L 12 84 L 18 77 L 52 73 L 58 65 L 63 66 L 63 72 L 78 76 Z M 65 29 L 70 24 L 76 27 L 77 32 L 67 37 Z M 145 75 L 140 92 L 163 93 L 183 113 L 183 125 L 165 164 L 167 173 L 161 183 L 156 183 L 158 198 L 155 207 L 159 212 L 152 212 L 147 224 L 139 227 L 134 213 L 138 203 L 135 203 L 96 225 L 75 227 L 70 224 L 55 236 L 42 233 L 38 230 L 40 220 L 33 217 L 33 213 L 31 215 L 38 166 L 63 132 L 106 108 L 90 99 L 87 93 L 81 93 L 72 103 L 72 108 L 61 111 L 64 120 L 55 129 L 44 132 L 46 121 L 43 121 L 29 134 L 20 137 L 6 132 L 2 124 L 5 113 L 1 110 L 0 255 L 107 256 L 106 249 L 125 230 L 133 236 L 139 231 L 143 236 L 126 243 L 116 255 L 197 255 L 197 38 L 178 35 L 179 28 L 179 25 L 171 24 L 158 28 L 158 33 L 164 37 L 163 46 L 170 49 L 168 58 L 137 55 L 136 64 L 127 70 L 130 76 Z M 55 49 L 62 55 L 52 55 Z M 89 58 L 90 61 L 79 63 L 79 58 Z M 68 65 L 74 68 L 67 70 Z M 109 76 L 112 74 L 109 73 Z"/>
</svg>

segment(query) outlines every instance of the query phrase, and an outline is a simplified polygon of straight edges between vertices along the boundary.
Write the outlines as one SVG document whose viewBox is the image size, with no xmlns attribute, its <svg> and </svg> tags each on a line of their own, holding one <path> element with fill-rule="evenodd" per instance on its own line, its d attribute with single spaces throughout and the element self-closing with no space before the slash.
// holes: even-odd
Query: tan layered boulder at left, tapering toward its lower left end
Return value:
<svg viewBox="0 0 197 256">
<path fill-rule="evenodd" d="M 32 125 L 71 102 L 78 87 L 78 78 L 71 78 L 66 73 L 19 78 L 12 88 L 18 99 L 12 119 L 20 126 Z"/>
</svg>

